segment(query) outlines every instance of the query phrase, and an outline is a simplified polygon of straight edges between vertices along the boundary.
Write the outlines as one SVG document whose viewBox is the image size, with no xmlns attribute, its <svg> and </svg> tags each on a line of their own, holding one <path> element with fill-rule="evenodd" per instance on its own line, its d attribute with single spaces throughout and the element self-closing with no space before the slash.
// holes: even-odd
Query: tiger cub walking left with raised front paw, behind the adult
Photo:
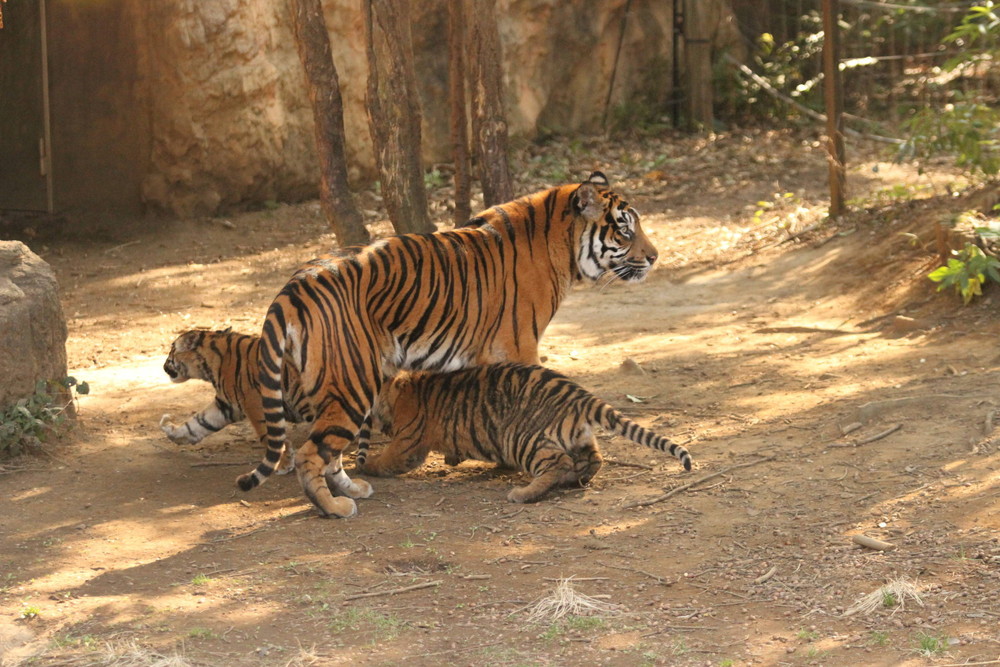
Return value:
<svg viewBox="0 0 1000 667">
<path fill-rule="evenodd" d="M 234 333 L 229 329 L 192 329 L 174 339 L 163 364 L 164 372 L 172 382 L 185 382 L 192 378 L 210 382 L 215 389 L 215 399 L 180 426 L 170 423 L 170 415 L 163 415 L 160 428 L 167 437 L 177 444 L 194 445 L 229 424 L 246 418 L 261 443 L 266 445 L 267 426 L 258 381 L 259 349 L 259 337 Z M 297 371 L 293 366 L 286 365 L 282 372 L 285 418 L 295 423 L 309 421 L 312 408 L 302 394 Z M 281 474 L 291 471 L 290 447 L 286 446 L 281 453 L 276 467 Z M 242 488 L 251 489 L 265 479 L 253 477 L 251 482 L 250 478 L 255 474 L 256 471 L 241 475 L 237 483 Z"/>
</svg>

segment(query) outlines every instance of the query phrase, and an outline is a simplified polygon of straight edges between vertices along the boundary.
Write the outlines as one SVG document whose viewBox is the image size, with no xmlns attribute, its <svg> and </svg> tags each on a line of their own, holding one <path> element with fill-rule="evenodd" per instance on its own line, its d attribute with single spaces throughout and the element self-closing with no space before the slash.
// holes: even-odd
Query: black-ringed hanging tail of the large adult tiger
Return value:
<svg viewBox="0 0 1000 667">
<path fill-rule="evenodd" d="M 236 483 L 244 491 L 263 484 L 271 476 L 281 460 L 281 451 L 285 446 L 287 425 L 281 389 L 281 370 L 285 363 L 287 322 L 282 301 L 282 295 L 279 295 L 267 311 L 257 361 L 264 423 L 267 425 L 267 452 L 253 472 L 240 475 L 236 479 Z"/>
</svg>

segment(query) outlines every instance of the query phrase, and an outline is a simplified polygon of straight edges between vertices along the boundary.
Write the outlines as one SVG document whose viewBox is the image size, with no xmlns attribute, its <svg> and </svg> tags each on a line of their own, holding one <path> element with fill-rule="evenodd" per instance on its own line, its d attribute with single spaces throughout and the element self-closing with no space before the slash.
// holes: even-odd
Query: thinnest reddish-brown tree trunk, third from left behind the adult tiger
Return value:
<svg viewBox="0 0 1000 667">
<path fill-rule="evenodd" d="M 451 98 L 451 155 L 455 163 L 455 226 L 472 217 L 469 183 L 469 117 L 465 104 L 465 16 L 463 0 L 448 1 L 448 93 Z"/>
</svg>

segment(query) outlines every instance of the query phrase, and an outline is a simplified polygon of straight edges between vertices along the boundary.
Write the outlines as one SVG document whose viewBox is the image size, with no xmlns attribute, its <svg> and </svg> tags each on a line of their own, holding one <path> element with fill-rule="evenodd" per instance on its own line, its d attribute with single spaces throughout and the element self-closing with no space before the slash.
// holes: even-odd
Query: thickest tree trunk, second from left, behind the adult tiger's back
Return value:
<svg viewBox="0 0 1000 667">
<path fill-rule="evenodd" d="M 433 232 L 420 156 L 420 100 L 406 0 L 367 0 L 368 127 L 389 220 L 399 234 Z"/>
</svg>

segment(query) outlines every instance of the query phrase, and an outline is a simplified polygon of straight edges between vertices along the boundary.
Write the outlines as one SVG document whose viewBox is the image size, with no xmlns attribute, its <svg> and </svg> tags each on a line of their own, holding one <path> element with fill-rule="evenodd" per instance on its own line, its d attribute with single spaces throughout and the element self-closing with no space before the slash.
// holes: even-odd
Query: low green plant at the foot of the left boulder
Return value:
<svg viewBox="0 0 1000 667">
<path fill-rule="evenodd" d="M 48 431 L 62 423 L 69 403 L 60 403 L 66 392 L 90 392 L 90 385 L 74 377 L 39 380 L 35 393 L 0 412 L 0 456 L 17 456 L 37 446 Z"/>
</svg>

